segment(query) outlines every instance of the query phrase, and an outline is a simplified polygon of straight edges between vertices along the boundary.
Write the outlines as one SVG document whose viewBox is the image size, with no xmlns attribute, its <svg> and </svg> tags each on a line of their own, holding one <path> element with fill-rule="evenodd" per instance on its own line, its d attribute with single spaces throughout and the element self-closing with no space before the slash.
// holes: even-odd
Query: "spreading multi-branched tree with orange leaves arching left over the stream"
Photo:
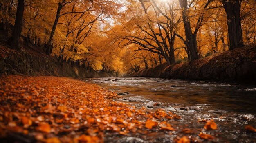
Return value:
<svg viewBox="0 0 256 143">
<path fill-rule="evenodd" d="M 173 64 L 175 33 L 180 23 L 180 18 L 175 18 L 174 3 L 154 0 L 139 2 L 144 14 L 135 15 L 127 23 L 129 34 L 122 37 L 126 41 L 124 45 L 136 44 L 136 51 L 150 51 L 164 57 L 169 65 Z"/>
</svg>

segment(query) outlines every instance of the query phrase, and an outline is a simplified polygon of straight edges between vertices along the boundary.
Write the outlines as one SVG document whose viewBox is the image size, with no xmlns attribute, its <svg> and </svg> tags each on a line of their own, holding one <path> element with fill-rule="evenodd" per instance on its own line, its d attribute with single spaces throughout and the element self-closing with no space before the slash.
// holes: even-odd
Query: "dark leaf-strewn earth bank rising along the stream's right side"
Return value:
<svg viewBox="0 0 256 143">
<path fill-rule="evenodd" d="M 162 64 L 132 76 L 256 83 L 256 45 L 191 62 Z"/>
</svg>

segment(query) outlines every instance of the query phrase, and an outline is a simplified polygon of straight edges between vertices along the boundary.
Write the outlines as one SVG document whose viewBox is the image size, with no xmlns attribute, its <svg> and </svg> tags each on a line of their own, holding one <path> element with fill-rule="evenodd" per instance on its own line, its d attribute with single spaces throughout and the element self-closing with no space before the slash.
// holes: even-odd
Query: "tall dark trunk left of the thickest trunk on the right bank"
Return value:
<svg viewBox="0 0 256 143">
<path fill-rule="evenodd" d="M 198 59 L 198 47 L 197 47 L 197 39 L 196 39 L 196 32 L 193 34 L 191 30 L 189 15 L 188 15 L 188 3 L 187 0 L 179 0 L 180 7 L 182 8 L 182 18 L 183 18 L 183 24 L 184 24 L 184 30 L 186 35 L 186 46 L 188 48 L 187 52 L 190 57 L 190 59 Z"/>
</svg>

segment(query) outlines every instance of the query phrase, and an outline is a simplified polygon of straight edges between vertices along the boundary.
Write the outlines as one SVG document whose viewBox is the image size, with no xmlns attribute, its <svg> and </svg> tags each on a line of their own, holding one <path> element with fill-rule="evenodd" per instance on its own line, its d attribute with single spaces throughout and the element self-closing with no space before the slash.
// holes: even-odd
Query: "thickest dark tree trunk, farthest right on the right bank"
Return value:
<svg viewBox="0 0 256 143">
<path fill-rule="evenodd" d="M 240 20 L 240 0 L 222 0 L 222 4 L 227 15 L 229 50 L 242 47 L 244 44 Z"/>
</svg>

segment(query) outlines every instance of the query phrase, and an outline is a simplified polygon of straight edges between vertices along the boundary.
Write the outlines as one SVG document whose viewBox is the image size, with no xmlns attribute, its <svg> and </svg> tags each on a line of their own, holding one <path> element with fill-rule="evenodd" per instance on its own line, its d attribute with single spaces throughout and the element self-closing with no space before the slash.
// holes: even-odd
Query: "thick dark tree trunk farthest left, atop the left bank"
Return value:
<svg viewBox="0 0 256 143">
<path fill-rule="evenodd" d="M 24 3 L 25 3 L 24 0 L 18 0 L 14 29 L 11 37 L 7 41 L 7 44 L 9 44 L 13 49 L 19 48 L 19 40 L 20 40 L 21 31 L 22 31 L 22 21 L 23 21 L 23 13 L 24 13 L 24 5 L 25 5 Z"/>
</svg>

